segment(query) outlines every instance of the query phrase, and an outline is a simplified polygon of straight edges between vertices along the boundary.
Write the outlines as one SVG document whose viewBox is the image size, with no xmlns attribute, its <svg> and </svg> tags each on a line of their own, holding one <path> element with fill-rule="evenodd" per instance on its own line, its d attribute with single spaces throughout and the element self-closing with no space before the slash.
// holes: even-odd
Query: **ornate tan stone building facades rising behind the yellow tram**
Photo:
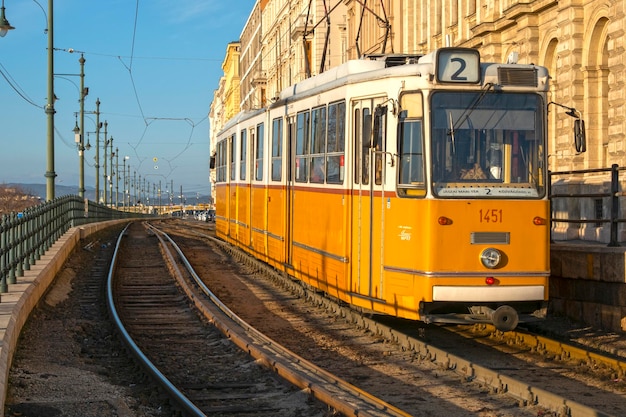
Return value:
<svg viewBox="0 0 626 417">
<path fill-rule="evenodd" d="M 548 105 L 552 172 L 625 166 L 625 6 L 624 0 L 259 0 L 242 32 L 241 108 L 264 106 L 283 88 L 365 54 L 463 46 L 478 49 L 485 61 L 549 69 L 549 100 L 557 103 Z M 215 100 L 223 100 L 218 94 Z M 562 106 L 585 122 L 584 153 L 574 148 L 574 118 Z M 556 191 L 603 193 L 608 178 L 555 175 L 552 184 Z M 609 217 L 606 197 L 554 206 L 556 217 Z M 555 224 L 553 232 L 557 239 L 609 239 L 608 225 L 599 222 Z M 619 234 L 626 240 L 621 227 Z"/>
</svg>

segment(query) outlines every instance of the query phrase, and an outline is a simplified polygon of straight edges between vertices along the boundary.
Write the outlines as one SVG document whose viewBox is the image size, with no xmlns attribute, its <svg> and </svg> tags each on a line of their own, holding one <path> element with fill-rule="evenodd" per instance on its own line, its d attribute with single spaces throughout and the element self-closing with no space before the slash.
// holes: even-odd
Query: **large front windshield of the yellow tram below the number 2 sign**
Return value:
<svg viewBox="0 0 626 417">
<path fill-rule="evenodd" d="M 431 97 L 432 180 L 446 198 L 545 193 L 544 106 L 537 94 L 437 92 Z"/>
</svg>

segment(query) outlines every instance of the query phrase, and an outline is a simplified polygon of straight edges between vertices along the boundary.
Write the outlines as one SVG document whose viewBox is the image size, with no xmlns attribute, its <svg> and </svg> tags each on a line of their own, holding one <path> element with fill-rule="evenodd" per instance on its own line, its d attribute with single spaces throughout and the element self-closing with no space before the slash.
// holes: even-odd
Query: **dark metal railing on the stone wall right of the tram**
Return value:
<svg viewBox="0 0 626 417">
<path fill-rule="evenodd" d="M 596 169 L 581 169 L 574 171 L 558 171 L 558 172 L 550 172 L 549 173 L 549 196 L 550 196 L 550 204 L 551 204 L 551 225 L 554 223 L 576 223 L 576 224 L 606 224 L 609 223 L 610 234 L 609 234 L 609 243 L 608 246 L 617 247 L 620 246 L 618 239 L 618 228 L 620 223 L 626 222 L 626 219 L 620 218 L 620 197 L 626 196 L 626 193 L 620 191 L 620 182 L 619 182 L 619 174 L 620 171 L 624 171 L 626 168 L 619 167 L 617 164 L 613 164 L 610 168 L 596 168 Z M 580 175 L 581 183 L 580 186 L 590 186 L 589 184 L 585 184 L 583 179 L 585 175 L 588 174 L 596 174 L 596 173 L 609 173 L 610 174 L 610 182 L 607 183 L 607 186 L 594 186 L 598 191 L 597 192 L 558 192 L 552 193 L 552 189 L 555 186 L 555 177 L 567 177 L 566 180 L 571 184 L 572 175 Z M 554 216 L 554 206 L 556 199 L 577 199 L 578 204 L 582 204 L 583 199 L 594 199 L 596 201 L 601 201 L 601 209 L 600 215 L 598 212 L 594 213 L 594 216 L 585 216 L 584 214 L 576 214 L 580 212 L 580 210 L 568 210 L 567 218 L 556 218 Z M 608 210 L 605 210 L 607 208 Z M 604 215 L 605 212 L 608 211 L 608 217 Z M 586 217 L 586 218 L 583 218 Z M 593 217 L 593 218 L 590 218 Z"/>
</svg>

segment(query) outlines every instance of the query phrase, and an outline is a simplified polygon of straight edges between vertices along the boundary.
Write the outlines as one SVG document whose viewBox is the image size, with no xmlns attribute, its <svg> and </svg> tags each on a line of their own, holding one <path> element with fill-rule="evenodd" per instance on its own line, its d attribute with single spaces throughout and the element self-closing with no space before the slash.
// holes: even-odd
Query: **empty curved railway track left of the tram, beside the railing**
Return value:
<svg viewBox="0 0 626 417">
<path fill-rule="evenodd" d="M 229 312 L 200 283 L 202 295 L 190 279 L 197 276 L 180 250 L 155 229 L 134 223 L 118 240 L 109 308 L 127 344 L 187 413 L 326 415 L 328 406 L 309 401 L 315 397 L 333 413 L 407 415 L 283 349 Z"/>
</svg>

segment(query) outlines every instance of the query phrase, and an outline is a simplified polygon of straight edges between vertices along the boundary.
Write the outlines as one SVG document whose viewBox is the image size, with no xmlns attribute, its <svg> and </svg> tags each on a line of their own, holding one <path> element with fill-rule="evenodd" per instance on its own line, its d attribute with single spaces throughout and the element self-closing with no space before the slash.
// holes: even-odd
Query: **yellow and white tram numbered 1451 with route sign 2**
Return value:
<svg viewBox="0 0 626 417">
<path fill-rule="evenodd" d="M 349 61 L 230 120 L 216 233 L 355 307 L 545 317 L 549 76 L 477 50 Z"/>
</svg>

